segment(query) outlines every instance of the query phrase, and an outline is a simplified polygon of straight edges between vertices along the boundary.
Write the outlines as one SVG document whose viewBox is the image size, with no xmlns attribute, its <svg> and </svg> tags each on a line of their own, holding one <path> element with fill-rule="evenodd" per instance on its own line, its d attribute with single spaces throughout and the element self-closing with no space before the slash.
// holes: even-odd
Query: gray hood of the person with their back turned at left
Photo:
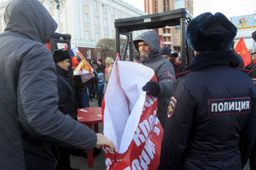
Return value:
<svg viewBox="0 0 256 170">
<path fill-rule="evenodd" d="M 31 40 L 47 43 L 58 24 L 38 0 L 12 0 L 5 9 L 5 31 L 15 31 Z"/>
</svg>

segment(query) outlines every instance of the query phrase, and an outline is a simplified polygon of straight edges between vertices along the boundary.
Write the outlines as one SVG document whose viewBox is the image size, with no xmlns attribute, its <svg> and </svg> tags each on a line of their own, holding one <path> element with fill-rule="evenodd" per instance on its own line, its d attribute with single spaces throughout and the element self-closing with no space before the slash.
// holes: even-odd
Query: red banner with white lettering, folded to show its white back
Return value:
<svg viewBox="0 0 256 170">
<path fill-rule="evenodd" d="M 140 80 L 144 81 L 143 84 L 150 80 L 157 81 L 157 79 L 154 71 L 148 67 L 135 62 L 127 64 L 122 62 L 117 56 L 101 107 L 104 135 L 117 147 L 114 152 L 106 146 L 103 147 L 106 170 L 156 170 L 159 165 L 163 136 L 163 128 L 157 118 L 158 99 L 140 91 L 142 84 L 139 82 L 136 84 L 138 90 L 136 88 L 133 90 L 135 96 L 138 91 L 140 93 L 137 98 L 133 98 L 134 95 L 131 95 L 133 91 L 129 85 L 134 84 L 135 76 L 122 79 L 125 77 L 122 69 L 127 71 L 127 68 L 132 68 L 135 72 L 139 69 L 142 72 L 148 69 L 145 72 L 150 72 L 152 76 L 148 80 L 141 78 Z M 126 84 L 126 87 L 123 84 Z M 127 110 L 128 114 L 126 114 Z"/>
</svg>

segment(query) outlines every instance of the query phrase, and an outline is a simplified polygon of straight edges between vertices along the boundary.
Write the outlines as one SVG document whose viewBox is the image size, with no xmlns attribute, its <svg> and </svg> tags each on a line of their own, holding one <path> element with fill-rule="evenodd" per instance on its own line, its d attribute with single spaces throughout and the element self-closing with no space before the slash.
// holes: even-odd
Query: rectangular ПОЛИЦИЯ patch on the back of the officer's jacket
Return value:
<svg viewBox="0 0 256 170">
<path fill-rule="evenodd" d="M 221 98 L 208 100 L 208 116 L 237 115 L 251 112 L 251 98 Z"/>
</svg>

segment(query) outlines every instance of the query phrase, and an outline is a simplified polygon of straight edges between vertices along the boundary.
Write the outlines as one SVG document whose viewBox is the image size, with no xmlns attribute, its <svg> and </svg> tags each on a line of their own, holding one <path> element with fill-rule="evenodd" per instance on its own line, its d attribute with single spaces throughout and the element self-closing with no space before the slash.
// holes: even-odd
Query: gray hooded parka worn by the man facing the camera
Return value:
<svg viewBox="0 0 256 170">
<path fill-rule="evenodd" d="M 139 41 L 145 41 L 151 50 L 151 54 L 148 55 L 150 61 L 140 56 L 140 64 L 152 68 L 159 82 L 159 94 L 155 97 L 158 97 L 158 119 L 164 127 L 167 108 L 172 95 L 174 81 L 176 80 L 174 68 L 171 62 L 160 55 L 159 38 L 154 31 L 146 31 L 134 39 L 133 44 L 140 53 L 137 45 Z"/>
</svg>

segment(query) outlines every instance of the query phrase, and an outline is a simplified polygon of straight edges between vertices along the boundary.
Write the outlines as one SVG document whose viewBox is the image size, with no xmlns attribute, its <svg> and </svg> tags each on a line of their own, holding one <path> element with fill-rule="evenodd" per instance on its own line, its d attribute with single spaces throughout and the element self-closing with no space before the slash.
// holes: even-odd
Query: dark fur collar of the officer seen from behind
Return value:
<svg viewBox="0 0 256 170">
<path fill-rule="evenodd" d="M 191 65 L 186 67 L 182 72 L 197 70 L 210 65 L 229 64 L 238 67 L 241 60 L 230 50 L 204 51 L 196 55 Z"/>
</svg>

